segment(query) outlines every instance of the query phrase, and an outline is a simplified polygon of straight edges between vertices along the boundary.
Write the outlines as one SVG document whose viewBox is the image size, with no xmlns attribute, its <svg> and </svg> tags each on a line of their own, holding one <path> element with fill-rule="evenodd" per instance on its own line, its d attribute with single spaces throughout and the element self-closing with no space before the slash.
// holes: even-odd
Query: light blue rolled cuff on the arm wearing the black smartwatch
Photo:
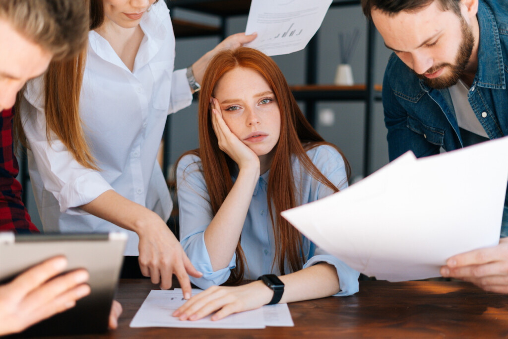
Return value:
<svg viewBox="0 0 508 339">
<path fill-rule="evenodd" d="M 303 265 L 303 268 L 310 267 L 319 262 L 326 262 L 333 265 L 337 270 L 340 291 L 337 294 L 334 294 L 335 297 L 353 295 L 358 292 L 358 277 L 360 276 L 360 272 L 355 271 L 353 268 L 347 266 L 341 260 L 330 254 L 313 256 L 305 263 L 305 265 Z"/>
</svg>

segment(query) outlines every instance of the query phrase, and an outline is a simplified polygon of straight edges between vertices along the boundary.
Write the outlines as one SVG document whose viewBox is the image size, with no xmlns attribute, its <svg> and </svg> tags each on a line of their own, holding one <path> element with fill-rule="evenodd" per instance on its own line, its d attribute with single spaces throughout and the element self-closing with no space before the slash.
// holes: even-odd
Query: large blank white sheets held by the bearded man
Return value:
<svg viewBox="0 0 508 339">
<path fill-rule="evenodd" d="M 440 276 L 499 241 L 508 137 L 416 159 L 407 152 L 342 192 L 282 212 L 323 250 L 377 279 Z"/>
</svg>

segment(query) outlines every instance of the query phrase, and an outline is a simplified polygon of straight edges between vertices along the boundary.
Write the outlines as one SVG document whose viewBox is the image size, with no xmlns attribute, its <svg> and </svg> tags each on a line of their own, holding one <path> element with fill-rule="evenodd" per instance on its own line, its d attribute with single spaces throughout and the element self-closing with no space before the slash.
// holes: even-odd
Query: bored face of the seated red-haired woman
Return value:
<svg viewBox="0 0 508 339">
<path fill-rule="evenodd" d="M 231 132 L 260 160 L 271 159 L 280 136 L 280 111 L 272 88 L 261 74 L 237 67 L 220 78 L 213 97 Z"/>
</svg>

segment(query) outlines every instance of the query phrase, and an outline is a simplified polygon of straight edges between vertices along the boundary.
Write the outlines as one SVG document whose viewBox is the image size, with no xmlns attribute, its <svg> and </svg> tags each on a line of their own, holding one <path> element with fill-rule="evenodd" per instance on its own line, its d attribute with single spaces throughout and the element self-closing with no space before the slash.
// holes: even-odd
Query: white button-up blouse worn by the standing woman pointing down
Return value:
<svg viewBox="0 0 508 339">
<path fill-rule="evenodd" d="M 88 35 L 80 114 L 100 171 L 81 166 L 56 135 L 48 142 L 43 77 L 28 83 L 21 109 L 44 232 L 127 232 L 125 255 L 139 255 L 137 234 L 77 206 L 113 189 L 167 221 L 173 203 L 157 149 L 167 115 L 192 102 L 185 70 L 173 71 L 175 38 L 166 4 L 154 4 L 140 26 L 145 36 L 133 72 L 107 40 L 94 31 Z"/>
</svg>

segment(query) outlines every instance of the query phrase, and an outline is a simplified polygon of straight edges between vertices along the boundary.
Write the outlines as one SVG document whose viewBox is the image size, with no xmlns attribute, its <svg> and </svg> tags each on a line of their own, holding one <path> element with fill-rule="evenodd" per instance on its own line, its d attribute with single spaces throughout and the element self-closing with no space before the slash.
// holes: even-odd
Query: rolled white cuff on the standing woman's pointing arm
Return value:
<svg viewBox="0 0 508 339">
<path fill-rule="evenodd" d="M 89 172 L 67 182 L 57 196 L 60 212 L 85 215 L 78 206 L 82 206 L 99 197 L 106 191 L 113 190 L 111 185 L 97 172 Z"/>
</svg>

